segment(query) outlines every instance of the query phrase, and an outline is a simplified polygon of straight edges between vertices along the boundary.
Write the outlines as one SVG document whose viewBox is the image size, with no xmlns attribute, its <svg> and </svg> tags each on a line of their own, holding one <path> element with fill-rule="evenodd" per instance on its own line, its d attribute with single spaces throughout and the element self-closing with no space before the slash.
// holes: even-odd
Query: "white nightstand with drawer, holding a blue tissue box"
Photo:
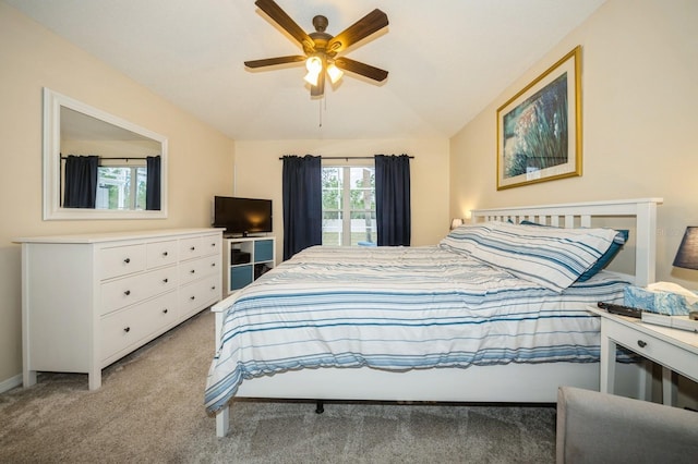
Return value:
<svg viewBox="0 0 698 464">
<path fill-rule="evenodd" d="M 589 310 L 601 316 L 601 392 L 613 393 L 616 344 L 663 366 L 664 404 L 675 400 L 672 371 L 698 381 L 698 333 L 643 323 L 595 307 Z"/>
</svg>

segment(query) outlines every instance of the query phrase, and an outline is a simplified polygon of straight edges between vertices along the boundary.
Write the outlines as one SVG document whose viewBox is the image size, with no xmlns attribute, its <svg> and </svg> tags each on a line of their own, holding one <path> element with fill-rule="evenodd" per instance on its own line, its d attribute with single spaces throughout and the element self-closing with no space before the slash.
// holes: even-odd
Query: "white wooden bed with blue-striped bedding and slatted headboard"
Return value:
<svg viewBox="0 0 698 464">
<path fill-rule="evenodd" d="M 217 436 L 234 398 L 554 403 L 558 386 L 598 389 L 586 308 L 654 280 L 661 202 L 479 209 L 435 246 L 299 253 L 212 308 Z M 616 252 L 630 271 L 589 272 Z"/>
</svg>

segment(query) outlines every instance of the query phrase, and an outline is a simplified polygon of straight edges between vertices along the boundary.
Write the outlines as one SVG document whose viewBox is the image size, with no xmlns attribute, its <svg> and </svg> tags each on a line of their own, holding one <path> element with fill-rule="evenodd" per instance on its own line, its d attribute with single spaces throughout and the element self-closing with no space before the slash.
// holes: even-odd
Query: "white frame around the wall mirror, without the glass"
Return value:
<svg viewBox="0 0 698 464">
<path fill-rule="evenodd" d="M 61 107 L 70 108 L 109 124 L 159 142 L 163 147 L 160 166 L 160 209 L 115 211 L 60 207 Z M 44 87 L 44 220 L 93 219 L 165 219 L 167 218 L 167 137 L 121 118 L 93 108 L 73 98 Z"/>
</svg>

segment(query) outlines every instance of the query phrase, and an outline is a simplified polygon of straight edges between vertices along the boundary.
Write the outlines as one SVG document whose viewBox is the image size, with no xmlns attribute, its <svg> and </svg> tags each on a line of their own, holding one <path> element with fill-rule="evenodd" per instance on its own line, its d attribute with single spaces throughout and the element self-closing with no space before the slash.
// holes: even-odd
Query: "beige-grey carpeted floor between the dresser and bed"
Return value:
<svg viewBox="0 0 698 464">
<path fill-rule="evenodd" d="M 203 406 L 203 312 L 103 371 L 43 374 L 0 394 L 1 463 L 552 463 L 555 408 L 236 402 L 228 437 Z"/>
</svg>

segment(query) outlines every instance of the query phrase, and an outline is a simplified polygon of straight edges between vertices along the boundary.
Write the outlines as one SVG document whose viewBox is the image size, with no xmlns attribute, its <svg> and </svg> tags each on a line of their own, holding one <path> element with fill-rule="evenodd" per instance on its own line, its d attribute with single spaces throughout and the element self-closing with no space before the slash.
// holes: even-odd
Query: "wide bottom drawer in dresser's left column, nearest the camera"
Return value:
<svg viewBox="0 0 698 464">
<path fill-rule="evenodd" d="M 177 292 L 170 292 L 103 317 L 100 320 L 103 366 L 110 361 L 116 361 L 111 358 L 129 346 L 174 323 L 178 318 L 176 309 Z"/>
</svg>

